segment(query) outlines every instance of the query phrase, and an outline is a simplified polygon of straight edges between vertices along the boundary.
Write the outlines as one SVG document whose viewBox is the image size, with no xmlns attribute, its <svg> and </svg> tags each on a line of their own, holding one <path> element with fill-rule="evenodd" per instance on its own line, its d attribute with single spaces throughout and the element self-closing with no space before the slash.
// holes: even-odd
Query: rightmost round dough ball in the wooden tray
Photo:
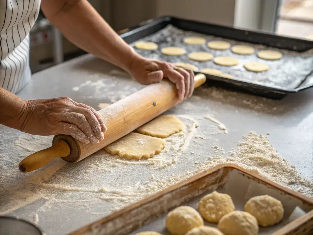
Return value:
<svg viewBox="0 0 313 235">
<path fill-rule="evenodd" d="M 255 216 L 259 225 L 263 227 L 280 222 L 284 216 L 284 207 L 281 202 L 268 195 L 250 198 L 244 210 Z"/>
</svg>

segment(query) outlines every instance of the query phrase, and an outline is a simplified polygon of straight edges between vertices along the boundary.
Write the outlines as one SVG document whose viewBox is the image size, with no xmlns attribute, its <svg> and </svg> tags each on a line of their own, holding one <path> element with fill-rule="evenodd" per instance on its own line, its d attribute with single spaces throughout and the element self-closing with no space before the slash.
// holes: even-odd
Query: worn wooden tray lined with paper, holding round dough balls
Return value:
<svg viewBox="0 0 313 235">
<path fill-rule="evenodd" d="M 170 234 L 165 229 L 168 212 L 182 205 L 197 208 L 202 196 L 212 191 L 228 193 L 236 206 L 243 210 L 249 198 L 268 194 L 280 200 L 285 216 L 279 224 L 260 227 L 259 234 L 313 234 L 313 199 L 280 186 L 250 170 L 223 164 L 206 170 L 153 196 L 89 224 L 70 235 L 124 235 L 143 231 Z M 206 225 L 216 227 L 216 224 Z"/>
</svg>

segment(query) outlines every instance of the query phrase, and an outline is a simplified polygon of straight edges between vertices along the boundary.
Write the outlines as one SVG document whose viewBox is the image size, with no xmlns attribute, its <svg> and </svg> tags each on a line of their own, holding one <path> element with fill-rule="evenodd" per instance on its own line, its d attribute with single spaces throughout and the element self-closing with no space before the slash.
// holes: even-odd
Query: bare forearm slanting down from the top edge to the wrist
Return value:
<svg viewBox="0 0 313 235">
<path fill-rule="evenodd" d="M 79 0 L 53 14 L 51 0 L 42 3 L 46 17 L 81 49 L 128 70 L 138 54 L 105 22 L 87 0 Z M 53 2 L 53 1 L 52 1 Z"/>
</svg>

